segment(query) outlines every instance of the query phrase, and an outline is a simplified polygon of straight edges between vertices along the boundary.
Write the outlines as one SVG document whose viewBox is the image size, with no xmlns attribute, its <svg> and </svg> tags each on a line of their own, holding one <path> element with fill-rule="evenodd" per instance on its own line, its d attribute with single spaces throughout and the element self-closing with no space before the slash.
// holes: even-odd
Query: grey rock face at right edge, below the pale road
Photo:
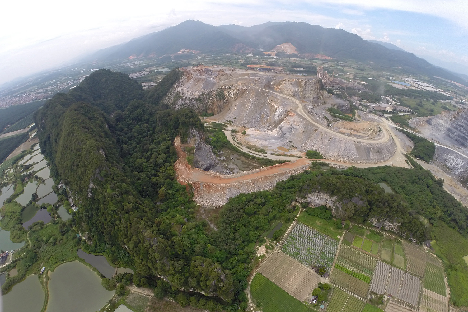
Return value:
<svg viewBox="0 0 468 312">
<path fill-rule="evenodd" d="M 459 153 L 436 145 L 434 160 L 443 163 L 454 177 L 465 187 L 468 186 L 468 158 Z"/>
</svg>

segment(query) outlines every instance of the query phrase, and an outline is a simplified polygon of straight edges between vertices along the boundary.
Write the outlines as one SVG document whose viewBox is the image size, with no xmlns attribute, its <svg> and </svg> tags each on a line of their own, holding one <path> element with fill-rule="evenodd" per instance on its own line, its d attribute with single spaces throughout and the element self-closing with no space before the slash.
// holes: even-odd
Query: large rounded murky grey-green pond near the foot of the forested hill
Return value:
<svg viewBox="0 0 468 312">
<path fill-rule="evenodd" d="M 101 278 L 79 261 L 59 265 L 51 273 L 48 288 L 47 312 L 98 311 L 114 296 L 114 291 L 105 290 Z"/>
</svg>

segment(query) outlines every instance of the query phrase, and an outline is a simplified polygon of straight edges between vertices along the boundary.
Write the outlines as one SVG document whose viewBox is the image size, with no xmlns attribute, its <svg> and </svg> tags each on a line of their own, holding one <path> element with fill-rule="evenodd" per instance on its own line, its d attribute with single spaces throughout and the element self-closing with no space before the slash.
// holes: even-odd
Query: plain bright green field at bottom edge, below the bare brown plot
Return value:
<svg viewBox="0 0 468 312">
<path fill-rule="evenodd" d="M 250 284 L 250 292 L 263 312 L 312 311 L 307 305 L 304 305 L 259 273 L 254 276 Z"/>
</svg>

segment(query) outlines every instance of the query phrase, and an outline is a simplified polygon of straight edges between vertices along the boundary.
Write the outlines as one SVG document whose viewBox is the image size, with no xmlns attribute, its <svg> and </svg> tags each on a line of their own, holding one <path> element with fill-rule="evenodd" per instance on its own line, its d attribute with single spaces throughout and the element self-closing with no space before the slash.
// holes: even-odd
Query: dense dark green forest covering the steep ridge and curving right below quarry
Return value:
<svg viewBox="0 0 468 312">
<path fill-rule="evenodd" d="M 468 235 L 466 209 L 417 163 L 415 169 L 344 171 L 314 163 L 311 171 L 278 182 L 271 191 L 231 198 L 213 230 L 197 218 L 192 194 L 175 178 L 174 139 L 180 135 L 185 141 L 190 128 L 204 130 L 194 111 L 161 103 L 178 75 L 175 70 L 144 92 L 122 74 L 98 70 L 83 81 L 86 88 L 56 95 L 35 114 L 51 175 L 65 182 L 79 205 L 77 226 L 94 238 L 90 251 L 133 266 L 135 285 L 157 285 L 159 295 L 168 293 L 183 304 L 188 295 L 181 290 L 195 290 L 223 298 L 229 311 L 236 311 L 246 301 L 257 240 L 273 223 L 294 218 L 292 201 L 317 191 L 342 204 L 336 217 L 387 220 L 407 238 L 438 239 L 418 214 L 431 224 L 447 224 L 462 239 Z M 382 181 L 396 193 L 375 185 Z"/>
</svg>

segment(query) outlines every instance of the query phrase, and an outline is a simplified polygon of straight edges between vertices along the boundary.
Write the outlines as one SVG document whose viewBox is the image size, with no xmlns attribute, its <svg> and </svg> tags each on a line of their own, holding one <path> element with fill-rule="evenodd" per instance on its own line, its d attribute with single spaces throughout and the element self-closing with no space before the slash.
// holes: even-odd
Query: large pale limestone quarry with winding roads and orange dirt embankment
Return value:
<svg viewBox="0 0 468 312">
<path fill-rule="evenodd" d="M 176 109 L 211 113 L 203 120 L 227 125 L 228 140 L 246 153 L 290 161 L 247 171 L 228 168 L 228 172 L 201 135 L 192 133 L 195 159 L 191 166 L 184 144 L 177 139 L 177 179 L 193 187 L 194 200 L 203 206 L 271 189 L 308 168 L 312 160 L 305 158 L 305 152 L 310 149 L 321 152 L 322 161 L 342 168 L 351 164 L 408 167 L 403 147 L 410 143 L 400 144 L 387 120 L 362 111 L 353 116 L 350 104 L 323 90 L 315 77 L 227 67 L 183 68 L 183 77 L 164 101 Z M 330 107 L 348 113 L 353 121 L 336 118 L 327 110 Z M 254 153 L 252 147 L 266 154 Z"/>
</svg>

